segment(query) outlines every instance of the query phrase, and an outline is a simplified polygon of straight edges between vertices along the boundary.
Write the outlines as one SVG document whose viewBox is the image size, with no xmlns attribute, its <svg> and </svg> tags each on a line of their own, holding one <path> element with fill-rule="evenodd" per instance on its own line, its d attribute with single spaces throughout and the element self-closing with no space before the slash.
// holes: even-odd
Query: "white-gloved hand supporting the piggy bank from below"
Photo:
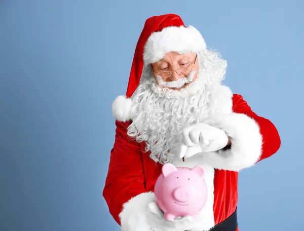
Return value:
<svg viewBox="0 0 304 231">
<path fill-rule="evenodd" d="M 174 220 L 165 220 L 163 211 L 156 202 L 150 202 L 147 207 L 147 219 L 154 231 L 184 231 L 193 221 L 191 216 L 176 217 Z"/>
</svg>

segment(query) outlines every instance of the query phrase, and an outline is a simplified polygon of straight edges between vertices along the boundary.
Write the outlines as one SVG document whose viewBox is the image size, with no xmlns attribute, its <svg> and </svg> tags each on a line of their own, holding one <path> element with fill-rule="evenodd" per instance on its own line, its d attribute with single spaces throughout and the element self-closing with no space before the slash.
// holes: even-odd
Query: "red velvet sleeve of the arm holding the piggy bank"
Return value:
<svg viewBox="0 0 304 231">
<path fill-rule="evenodd" d="M 146 192 L 140 144 L 127 135 L 129 123 L 116 121 L 115 143 L 111 150 L 103 197 L 113 218 L 121 224 L 123 204 Z"/>
</svg>

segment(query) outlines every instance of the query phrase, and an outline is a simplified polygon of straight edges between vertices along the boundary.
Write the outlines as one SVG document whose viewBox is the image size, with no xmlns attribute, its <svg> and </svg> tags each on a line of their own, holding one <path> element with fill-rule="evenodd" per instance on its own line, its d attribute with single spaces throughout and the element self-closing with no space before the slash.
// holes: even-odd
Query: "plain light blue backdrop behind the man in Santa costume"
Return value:
<svg viewBox="0 0 304 231">
<path fill-rule="evenodd" d="M 303 230 L 303 1 L 0 1 L 0 230 L 119 230 L 102 197 L 146 18 L 176 13 L 278 128 L 239 178 L 241 231 Z"/>
</svg>

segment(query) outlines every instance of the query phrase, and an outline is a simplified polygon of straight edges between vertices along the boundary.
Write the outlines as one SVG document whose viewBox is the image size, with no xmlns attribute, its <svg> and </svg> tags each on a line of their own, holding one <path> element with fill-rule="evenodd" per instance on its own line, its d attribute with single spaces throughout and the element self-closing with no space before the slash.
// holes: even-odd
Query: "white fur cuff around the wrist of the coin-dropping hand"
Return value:
<svg viewBox="0 0 304 231">
<path fill-rule="evenodd" d="M 262 136 L 258 124 L 241 113 L 218 115 L 204 123 L 222 129 L 231 137 L 231 148 L 203 153 L 204 160 L 217 169 L 240 171 L 253 166 L 261 155 Z"/>
</svg>

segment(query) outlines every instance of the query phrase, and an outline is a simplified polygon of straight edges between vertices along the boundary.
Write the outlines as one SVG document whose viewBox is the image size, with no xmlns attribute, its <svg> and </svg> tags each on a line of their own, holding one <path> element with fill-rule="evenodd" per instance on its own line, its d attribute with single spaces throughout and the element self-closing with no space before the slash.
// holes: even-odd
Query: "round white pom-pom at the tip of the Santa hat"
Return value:
<svg viewBox="0 0 304 231">
<path fill-rule="evenodd" d="M 118 96 L 112 104 L 113 116 L 117 121 L 126 122 L 131 119 L 132 100 Z"/>
</svg>

